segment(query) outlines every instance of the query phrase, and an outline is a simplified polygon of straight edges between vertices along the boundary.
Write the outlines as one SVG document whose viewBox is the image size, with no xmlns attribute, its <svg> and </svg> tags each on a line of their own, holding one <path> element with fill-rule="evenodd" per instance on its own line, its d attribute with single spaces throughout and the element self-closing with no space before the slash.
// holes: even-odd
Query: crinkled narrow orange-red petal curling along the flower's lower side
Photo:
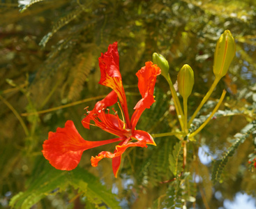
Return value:
<svg viewBox="0 0 256 209">
<path fill-rule="evenodd" d="M 114 157 L 119 157 L 123 154 L 123 152 L 132 146 L 140 146 L 140 147 L 147 147 L 146 146 L 146 140 L 141 140 L 141 141 L 136 141 L 136 142 L 129 142 L 129 143 L 123 143 L 123 145 L 121 146 L 116 146 L 116 150 L 114 153 L 110 153 L 107 151 L 103 151 L 101 153 L 98 154 L 98 156 L 96 157 L 91 157 L 91 165 L 93 167 L 97 167 L 98 166 L 98 162 L 100 160 L 102 160 L 103 158 L 107 157 L 107 158 L 114 158 Z"/>
</svg>

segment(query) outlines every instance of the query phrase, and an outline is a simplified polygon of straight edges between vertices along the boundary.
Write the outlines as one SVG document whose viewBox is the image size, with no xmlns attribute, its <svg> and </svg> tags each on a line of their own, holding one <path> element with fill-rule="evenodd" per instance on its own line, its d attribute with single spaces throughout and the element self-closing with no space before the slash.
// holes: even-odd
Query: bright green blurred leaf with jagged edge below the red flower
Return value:
<svg viewBox="0 0 256 209">
<path fill-rule="evenodd" d="M 65 191 L 68 185 L 86 196 L 89 205 L 94 208 L 100 208 L 102 203 L 106 207 L 119 208 L 119 202 L 101 185 L 98 178 L 79 167 L 73 171 L 59 171 L 45 162 L 43 157 L 38 157 L 38 165 L 33 174 L 36 178 L 30 180 L 27 191 L 19 192 L 10 200 L 12 208 L 31 208 L 46 196 Z"/>
</svg>

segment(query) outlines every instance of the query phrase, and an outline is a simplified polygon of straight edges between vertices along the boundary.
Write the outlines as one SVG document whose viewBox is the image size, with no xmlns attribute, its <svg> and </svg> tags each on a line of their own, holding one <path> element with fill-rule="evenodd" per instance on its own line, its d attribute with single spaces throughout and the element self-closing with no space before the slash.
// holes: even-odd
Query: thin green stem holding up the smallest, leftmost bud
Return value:
<svg viewBox="0 0 256 209">
<path fill-rule="evenodd" d="M 171 79 L 169 74 L 168 74 L 168 77 L 167 77 L 167 82 L 170 86 L 170 90 L 171 90 L 171 93 L 172 93 L 172 98 L 174 100 L 174 106 L 175 106 L 176 113 L 177 113 L 177 116 L 178 116 L 178 119 L 179 119 L 179 124 L 181 125 L 181 130 L 184 131 L 184 124 L 183 124 L 184 114 L 183 114 L 183 111 L 181 109 L 181 103 L 179 102 L 178 95 L 177 95 L 177 93 L 174 89 L 174 86 L 172 84 L 172 79 Z"/>
</svg>

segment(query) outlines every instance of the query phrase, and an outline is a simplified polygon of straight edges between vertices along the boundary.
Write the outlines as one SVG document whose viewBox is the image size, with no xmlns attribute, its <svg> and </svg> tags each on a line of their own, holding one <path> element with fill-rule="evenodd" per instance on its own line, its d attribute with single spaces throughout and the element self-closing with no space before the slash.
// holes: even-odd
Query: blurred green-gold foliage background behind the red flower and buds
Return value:
<svg viewBox="0 0 256 209">
<path fill-rule="evenodd" d="M 248 163 L 256 144 L 255 1 L 2 0 L 0 17 L 0 208 L 234 208 L 237 201 L 256 208 L 255 168 Z M 158 52 L 170 63 L 173 83 L 184 64 L 193 68 L 191 116 L 213 82 L 213 54 L 226 29 L 236 56 L 200 112 L 202 121 L 223 89 L 227 95 L 215 120 L 188 144 L 181 178 L 173 180 L 170 160 L 176 137 L 126 150 L 118 178 L 111 160 L 96 168 L 90 162 L 102 150 L 113 152 L 114 144 L 86 150 L 73 171 L 45 160 L 43 141 L 67 120 L 86 140 L 113 138 L 81 124 L 84 107 L 93 109 L 111 91 L 98 84 L 98 57 L 108 45 L 119 45 L 130 114 L 140 100 L 135 73 Z M 137 128 L 177 130 L 164 77 L 154 95 Z"/>
</svg>

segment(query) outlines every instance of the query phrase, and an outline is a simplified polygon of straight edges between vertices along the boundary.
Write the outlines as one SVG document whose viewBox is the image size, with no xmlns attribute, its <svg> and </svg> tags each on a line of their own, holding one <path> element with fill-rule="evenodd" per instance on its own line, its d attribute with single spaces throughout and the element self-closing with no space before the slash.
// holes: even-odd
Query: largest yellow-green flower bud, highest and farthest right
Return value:
<svg viewBox="0 0 256 209">
<path fill-rule="evenodd" d="M 230 31 L 226 30 L 218 39 L 214 52 L 213 73 L 216 77 L 222 78 L 227 74 L 235 53 L 236 44 L 234 38 Z"/>
</svg>

